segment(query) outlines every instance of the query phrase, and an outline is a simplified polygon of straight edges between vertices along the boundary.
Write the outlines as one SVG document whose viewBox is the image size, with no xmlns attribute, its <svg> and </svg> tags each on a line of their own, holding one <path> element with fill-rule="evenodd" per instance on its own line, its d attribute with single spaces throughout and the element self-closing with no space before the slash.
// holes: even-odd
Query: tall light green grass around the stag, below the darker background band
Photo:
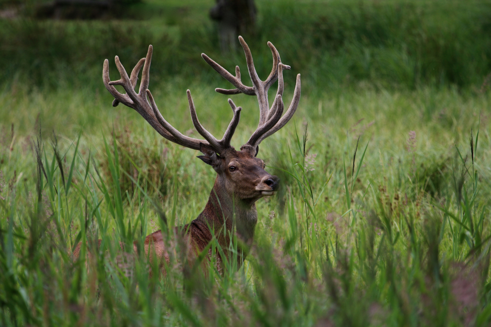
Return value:
<svg viewBox="0 0 491 327">
<path fill-rule="evenodd" d="M 216 108 L 202 109 L 202 123 L 220 134 L 225 99 L 194 93 L 198 108 Z M 131 109 L 110 107 L 105 95 L 85 104 L 76 91 L 65 100 L 3 97 L 31 124 L 31 106 L 46 103 L 46 111 L 29 138 L 15 122 L 12 141 L 3 124 L 2 325 L 489 325 L 488 94 L 302 98 L 295 121 L 261 145 L 282 189 L 258 202 L 244 265 L 219 273 L 212 264 L 202 275 L 171 233 L 162 278 L 149 277 L 158 267 L 141 251 L 125 254 L 117 244 L 137 241 L 141 249 L 148 233 L 194 219 L 213 171 L 195 151 L 158 138 Z M 156 98 L 180 130 L 191 125 L 178 94 Z M 244 107 L 238 146 L 254 129 L 257 104 L 236 102 Z M 84 123 L 88 108 L 100 108 L 87 114 L 99 117 L 95 126 Z M 63 112 L 83 127 L 56 125 Z M 162 161 L 159 177 L 154 158 Z M 71 258 L 79 241 L 90 259 Z M 210 246 L 233 256 L 235 242 Z"/>
</svg>

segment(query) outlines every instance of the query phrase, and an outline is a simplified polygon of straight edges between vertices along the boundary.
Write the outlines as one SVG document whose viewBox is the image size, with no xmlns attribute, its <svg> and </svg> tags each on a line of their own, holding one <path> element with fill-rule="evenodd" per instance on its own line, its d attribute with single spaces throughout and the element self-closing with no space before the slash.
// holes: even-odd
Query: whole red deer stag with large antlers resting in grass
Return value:
<svg viewBox="0 0 491 327">
<path fill-rule="evenodd" d="M 254 68 L 249 47 L 241 36 L 239 36 L 239 41 L 246 53 L 247 69 L 252 80 L 252 87 L 242 83 L 239 66 L 236 66 L 235 76 L 233 76 L 206 54 L 202 53 L 201 56 L 213 69 L 236 87 L 231 90 L 217 88 L 215 91 L 226 95 L 244 93 L 257 96 L 259 102 L 259 125 L 247 143 L 241 147 L 240 151 L 236 151 L 230 145 L 230 140 L 239 123 L 242 108 L 237 107 L 231 99 L 228 99 L 228 103 L 232 107 L 233 117 L 221 140 L 216 139 L 199 123 L 190 90 L 187 93 L 192 124 L 199 134 L 203 136 L 204 140 L 185 136 L 167 123 L 157 108 L 150 90 L 148 90 L 150 60 L 153 51 L 152 46 L 148 47 L 146 58 L 138 61 L 130 77 L 128 77 L 118 56 L 116 56 L 116 66 L 121 75 L 121 79 L 117 81 L 110 81 L 109 62 L 106 59 L 104 61 L 103 80 L 109 93 L 114 97 L 113 106 L 117 106 L 121 102 L 135 109 L 167 140 L 187 148 L 201 151 L 203 155 L 198 156 L 198 158 L 215 169 L 217 178 L 204 210 L 196 219 L 190 224 L 183 226 L 180 230 L 184 231 L 185 235 L 183 236 L 187 240 L 188 248 L 190 249 L 188 257 L 192 260 L 213 239 L 212 230 L 215 231 L 218 244 L 223 249 L 227 249 L 229 235 L 235 229 L 238 239 L 241 241 L 240 244 L 243 245 L 239 249 L 239 252 L 243 253 L 238 258 L 240 266 L 254 236 L 254 227 L 257 222 L 255 202 L 262 197 L 273 195 L 278 187 L 278 178 L 266 172 L 264 170 L 264 161 L 256 157 L 259 151 L 259 144 L 265 138 L 285 126 L 297 110 L 300 101 L 300 74 L 297 75 L 295 92 L 290 107 L 282 116 L 284 108 L 282 100 L 283 70 L 289 70 L 290 66 L 281 63 L 278 51 L 271 42 L 268 42 L 268 46 L 273 52 L 273 70 L 268 78 L 262 81 L 259 79 Z M 137 75 L 142 66 L 143 72 L 140 88 L 138 93 L 136 93 Z M 278 90 L 270 108 L 268 103 L 268 89 L 276 80 L 278 80 Z M 121 85 L 126 91 L 126 94 L 119 93 L 114 88 L 114 85 Z M 226 233 L 221 229 L 222 226 L 226 228 Z M 221 232 L 219 232 L 220 230 Z M 224 234 L 225 236 L 223 236 Z M 78 257 L 80 246 L 81 244 L 74 251 L 74 257 Z M 148 235 L 145 238 L 144 246 L 146 255 L 148 255 L 149 249 L 152 249 L 155 251 L 157 258 L 164 258 L 165 261 L 169 261 L 168 254 L 165 251 L 163 235 L 160 230 Z M 136 245 L 134 247 L 136 249 Z"/>
</svg>

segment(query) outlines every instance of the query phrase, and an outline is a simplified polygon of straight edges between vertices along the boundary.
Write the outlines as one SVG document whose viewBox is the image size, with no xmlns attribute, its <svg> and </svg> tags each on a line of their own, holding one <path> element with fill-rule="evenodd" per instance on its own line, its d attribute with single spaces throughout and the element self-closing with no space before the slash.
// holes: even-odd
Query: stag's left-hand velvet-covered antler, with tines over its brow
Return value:
<svg viewBox="0 0 491 327">
<path fill-rule="evenodd" d="M 198 121 L 196 115 L 196 109 L 191 98 L 190 90 L 188 93 L 189 107 L 191 111 L 192 124 L 196 130 L 205 138 L 205 140 L 199 140 L 188 137 L 180 133 L 177 129 L 172 127 L 164 117 L 162 117 L 157 104 L 155 104 L 154 98 L 148 90 L 149 75 L 150 75 L 150 62 L 152 60 L 153 47 L 148 47 L 146 58 L 141 58 L 136 64 L 135 68 L 131 72 L 130 77 L 126 73 L 123 65 L 119 61 L 118 56 L 114 58 L 116 67 L 121 75 L 121 78 L 116 81 L 109 79 L 109 61 L 104 60 L 104 67 L 102 71 L 102 78 L 104 85 L 108 89 L 109 93 L 114 97 L 112 101 L 113 106 L 117 106 L 119 102 L 124 105 L 135 109 L 160 135 L 164 136 L 167 140 L 182 145 L 194 150 L 200 150 L 200 143 L 212 147 L 218 153 L 221 153 L 227 148 L 230 148 L 230 140 L 234 134 L 235 128 L 239 123 L 241 107 L 237 107 L 231 99 L 228 99 L 230 107 L 232 107 L 233 118 L 230 122 L 227 130 L 225 131 L 223 138 L 217 140 L 212 134 L 210 134 Z M 143 72 L 141 73 L 141 82 L 138 93 L 135 92 L 136 80 L 138 79 L 138 73 L 143 66 Z M 119 93 L 113 85 L 121 85 L 126 94 Z M 147 100 L 148 97 L 148 100 Z"/>
</svg>

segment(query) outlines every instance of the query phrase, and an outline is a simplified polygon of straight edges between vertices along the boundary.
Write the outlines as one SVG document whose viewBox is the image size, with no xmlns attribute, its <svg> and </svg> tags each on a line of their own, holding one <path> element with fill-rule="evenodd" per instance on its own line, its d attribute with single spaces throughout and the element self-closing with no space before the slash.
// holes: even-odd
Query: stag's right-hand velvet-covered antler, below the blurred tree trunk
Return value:
<svg viewBox="0 0 491 327">
<path fill-rule="evenodd" d="M 244 48 L 244 52 L 246 53 L 246 62 L 247 62 L 247 70 L 249 71 L 249 76 L 252 81 L 252 87 L 246 86 L 241 81 L 241 71 L 239 66 L 235 67 L 235 76 L 230 74 L 226 69 L 218 65 L 215 61 L 210 59 L 206 54 L 201 53 L 201 56 L 205 61 L 213 67 L 220 75 L 222 75 L 226 80 L 228 80 L 232 85 L 236 88 L 231 90 L 216 88 L 215 91 L 222 94 L 239 94 L 244 93 L 247 95 L 255 95 L 257 96 L 257 101 L 259 103 L 259 124 L 257 126 L 256 131 L 251 135 L 246 144 L 251 145 L 252 147 L 257 147 L 265 138 L 272 135 L 274 132 L 279 130 L 281 127 L 285 126 L 286 123 L 292 118 L 293 114 L 297 110 L 300 101 L 300 74 L 297 75 L 297 83 L 295 85 L 295 91 L 293 94 L 292 102 L 290 103 L 290 107 L 283 114 L 284 104 L 282 100 L 284 83 L 283 83 L 283 70 L 290 70 L 290 66 L 283 65 L 281 63 L 281 59 L 279 57 L 279 53 L 274 48 L 271 42 L 268 42 L 268 46 L 273 53 L 273 69 L 266 78 L 266 80 L 262 81 L 259 79 L 259 76 L 256 73 L 256 69 L 254 68 L 254 62 L 252 61 L 252 55 L 250 53 L 249 47 L 246 44 L 246 41 L 239 36 L 239 41 Z M 273 85 L 273 83 L 278 80 L 278 90 L 276 91 L 276 97 L 274 98 L 273 104 L 271 108 L 268 103 L 268 90 Z"/>
</svg>

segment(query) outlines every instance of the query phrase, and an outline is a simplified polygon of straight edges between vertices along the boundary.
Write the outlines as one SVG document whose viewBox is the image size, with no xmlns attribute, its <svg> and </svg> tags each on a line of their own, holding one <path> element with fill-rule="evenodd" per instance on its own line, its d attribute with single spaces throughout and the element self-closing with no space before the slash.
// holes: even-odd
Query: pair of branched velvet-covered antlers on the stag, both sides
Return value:
<svg viewBox="0 0 491 327">
<path fill-rule="evenodd" d="M 292 118 L 293 114 L 297 110 L 300 101 L 300 74 L 297 75 L 297 83 L 295 85 L 295 92 L 293 94 L 293 99 L 290 107 L 286 113 L 282 116 L 284 110 L 284 104 L 282 100 L 284 83 L 283 83 L 283 70 L 289 70 L 290 66 L 281 63 L 279 53 L 274 48 L 271 42 L 268 42 L 268 46 L 273 53 L 273 69 L 266 78 L 262 81 L 256 73 L 254 68 L 254 62 L 252 60 L 252 55 L 250 53 L 249 47 L 247 46 L 244 39 L 239 36 L 239 41 L 244 48 L 246 53 L 247 69 L 249 71 L 249 76 L 252 81 L 252 87 L 246 86 L 241 81 L 241 72 L 239 66 L 235 68 L 235 76 L 227 72 L 223 67 L 218 65 L 215 61 L 210 59 L 206 54 L 202 53 L 201 56 L 209 63 L 220 75 L 225 79 L 230 81 L 236 88 L 231 90 L 225 89 L 215 89 L 217 92 L 222 94 L 239 94 L 244 93 L 247 95 L 255 95 L 259 103 L 259 124 L 254 133 L 250 136 L 246 144 L 252 147 L 257 147 L 265 138 L 279 130 L 281 127 L 285 126 L 286 123 Z M 109 79 L 109 61 L 106 59 L 104 61 L 103 68 L 103 80 L 104 85 L 108 89 L 109 93 L 114 97 L 112 101 L 113 106 L 117 106 L 120 102 L 124 105 L 135 109 L 159 134 L 161 134 L 167 140 L 182 145 L 187 148 L 194 150 L 200 150 L 200 144 L 204 144 L 213 148 L 218 153 L 231 147 L 230 140 L 235 132 L 235 128 L 240 120 L 241 107 L 237 107 L 231 99 L 228 99 L 228 103 L 233 111 L 232 120 L 225 131 L 223 138 L 217 140 L 210 132 L 208 132 L 199 122 L 198 116 L 196 114 L 196 109 L 192 101 L 190 90 L 188 93 L 188 102 L 191 112 L 192 124 L 198 131 L 198 133 L 203 136 L 205 140 L 195 139 L 183 135 L 173 126 L 171 126 L 164 119 L 157 104 L 152 96 L 150 90 L 148 90 L 148 84 L 150 82 L 150 62 L 152 60 L 153 47 L 148 47 L 148 52 L 145 58 L 141 58 L 136 64 L 135 68 L 131 72 L 130 77 L 126 73 L 123 65 L 119 61 L 118 56 L 114 58 L 116 67 L 121 75 L 121 78 L 116 81 L 111 81 Z M 138 93 L 135 92 L 136 82 L 138 79 L 138 73 L 143 67 L 141 73 L 141 82 Z M 276 97 L 274 98 L 273 104 L 270 108 L 268 103 L 268 90 L 273 85 L 273 83 L 278 80 L 278 90 L 276 91 Z M 119 93 L 114 85 L 121 85 L 126 91 L 125 94 Z"/>
</svg>

